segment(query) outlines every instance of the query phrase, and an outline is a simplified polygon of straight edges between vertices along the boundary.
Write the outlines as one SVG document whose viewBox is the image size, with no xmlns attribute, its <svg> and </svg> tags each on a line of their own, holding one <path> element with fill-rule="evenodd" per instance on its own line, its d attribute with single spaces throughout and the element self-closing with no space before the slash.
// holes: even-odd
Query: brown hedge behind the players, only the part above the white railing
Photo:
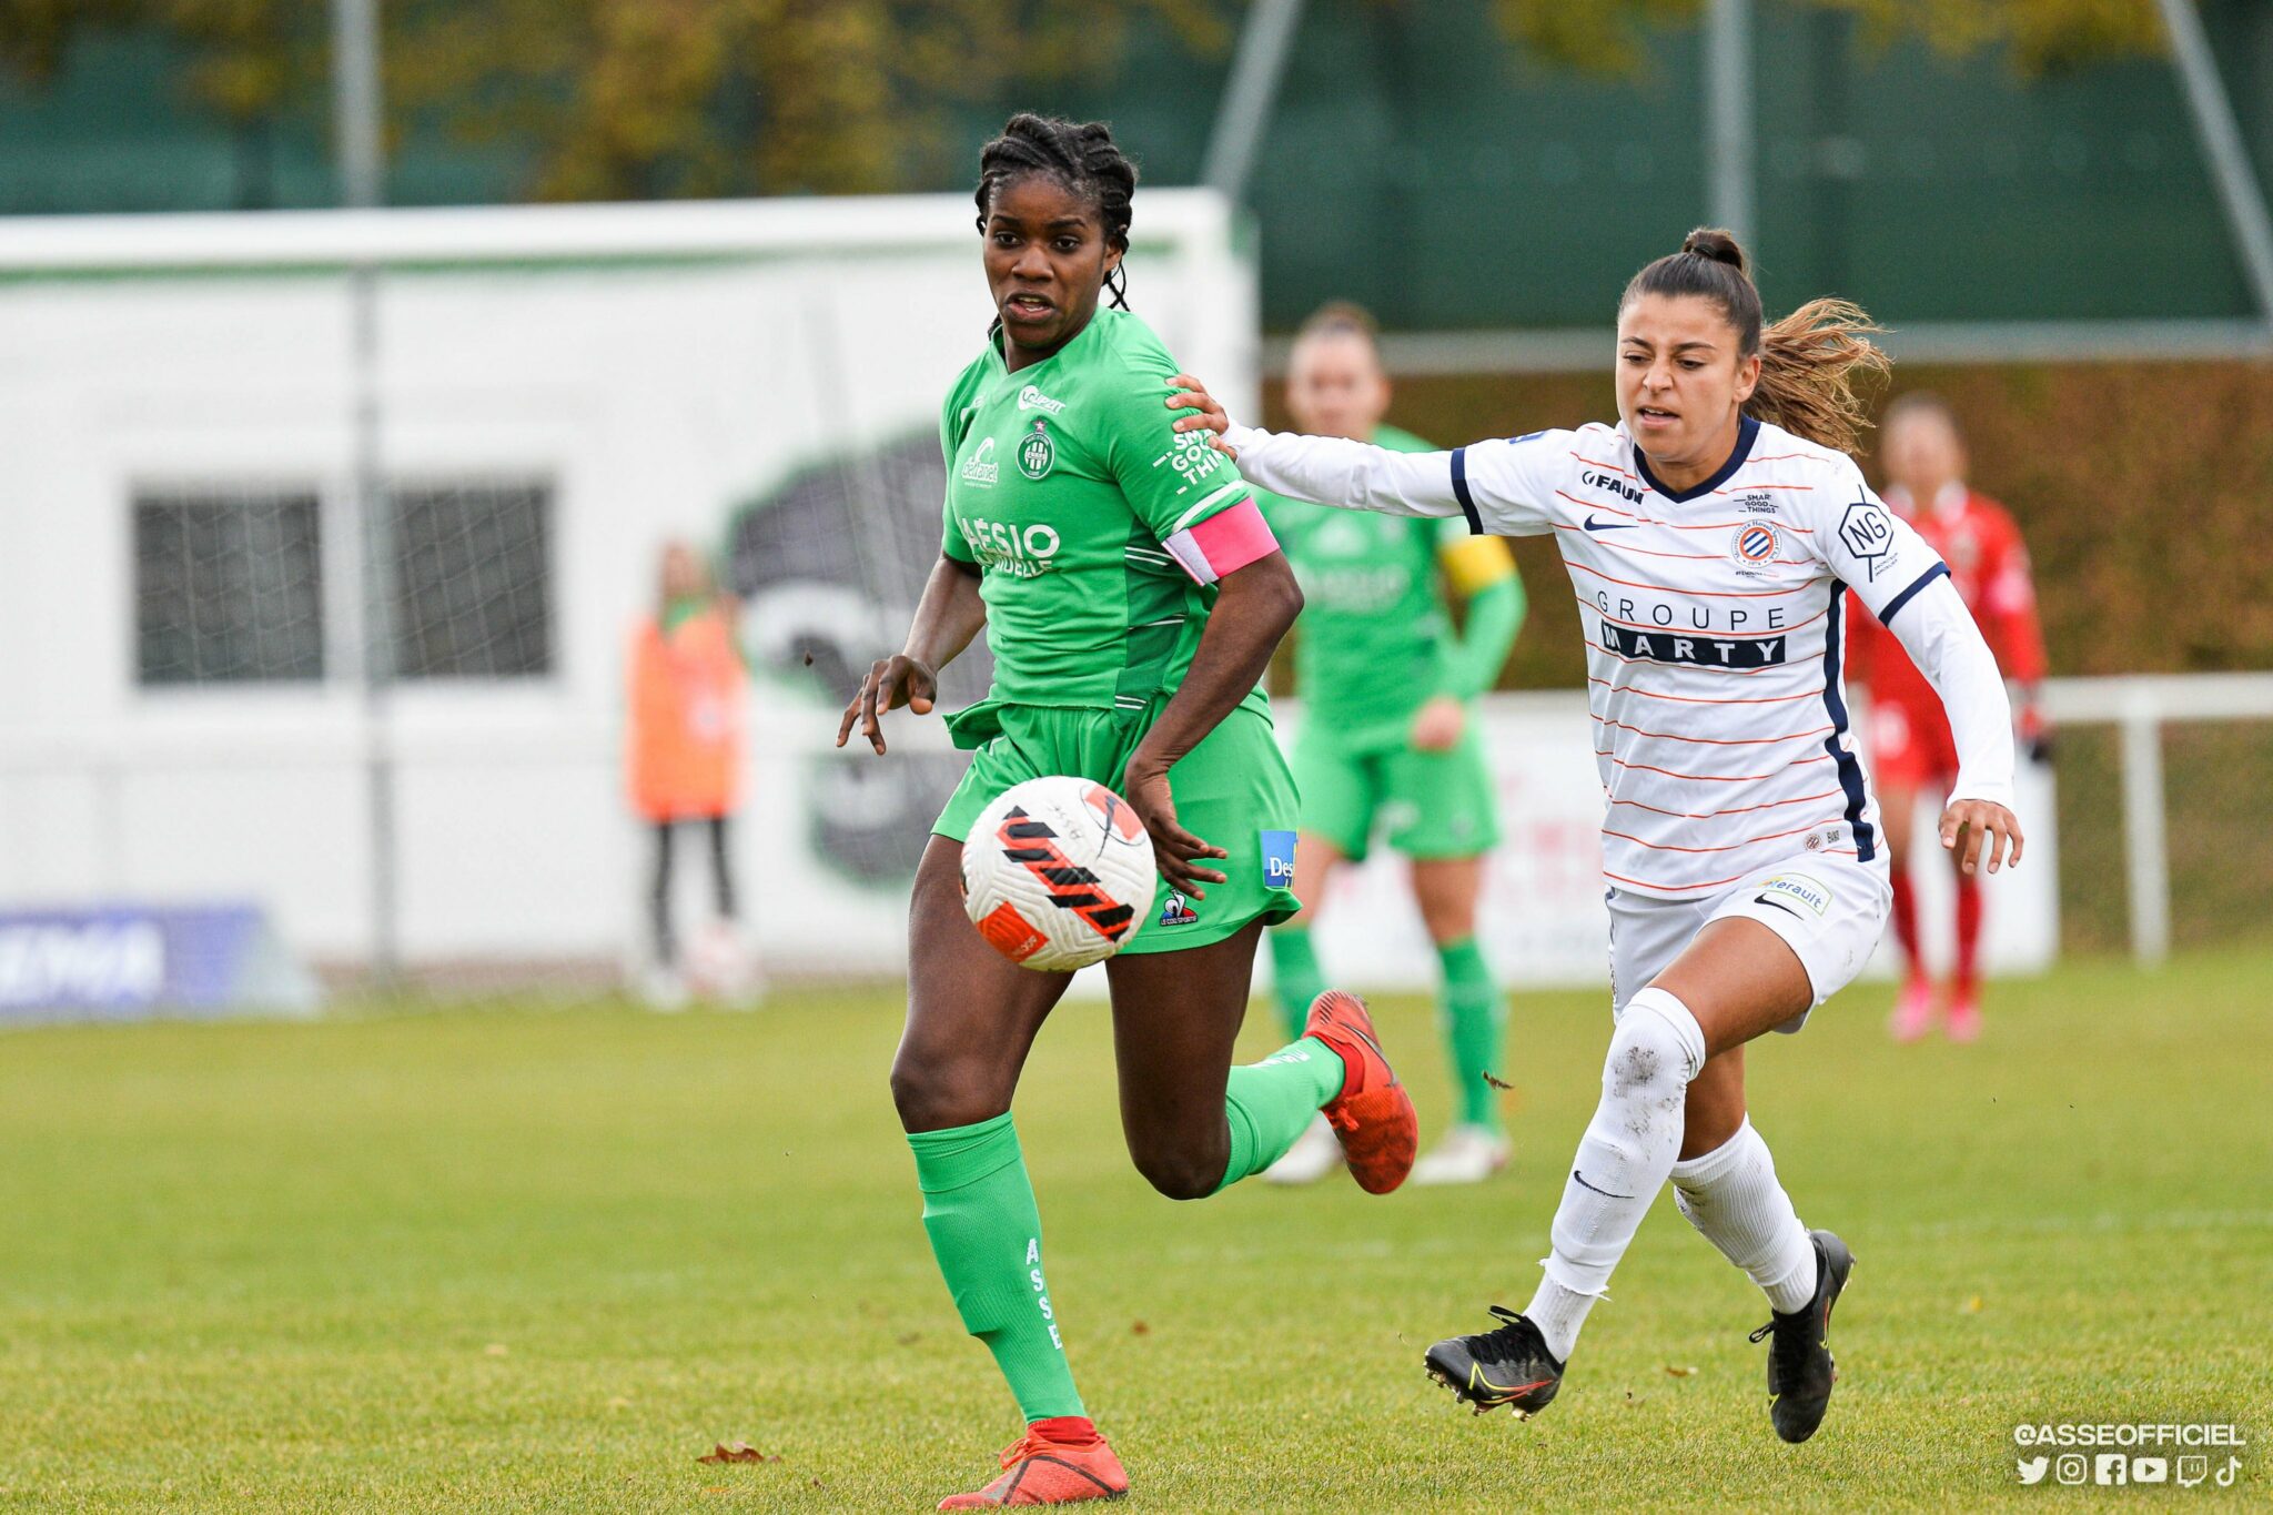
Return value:
<svg viewBox="0 0 2273 1515">
<path fill-rule="evenodd" d="M 2055 672 L 2273 668 L 2273 366 L 1896 366 L 1907 388 L 1957 407 L 1975 486 L 2021 520 Z M 1405 379 L 1393 411 L 1446 445 L 1616 413 L 1607 354 L 1602 375 Z M 1546 538 L 1516 556 L 1534 620 L 1507 684 L 1575 686 L 1568 577 Z"/>
</svg>

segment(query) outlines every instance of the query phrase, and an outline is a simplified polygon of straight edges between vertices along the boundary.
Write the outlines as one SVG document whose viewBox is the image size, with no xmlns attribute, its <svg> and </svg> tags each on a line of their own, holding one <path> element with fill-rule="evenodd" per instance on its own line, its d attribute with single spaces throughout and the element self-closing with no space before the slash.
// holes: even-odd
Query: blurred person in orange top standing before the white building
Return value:
<svg viewBox="0 0 2273 1515">
<path fill-rule="evenodd" d="M 668 543 L 655 613 L 632 631 L 625 743 L 632 809 L 655 831 L 655 961 L 646 995 L 657 1006 L 686 999 L 689 977 L 671 924 L 673 836 L 684 822 L 702 822 L 707 831 L 718 911 L 698 940 L 696 986 L 723 997 L 746 988 L 727 863 L 727 820 L 741 804 L 743 704 L 734 602 L 718 593 L 693 547 Z"/>
</svg>

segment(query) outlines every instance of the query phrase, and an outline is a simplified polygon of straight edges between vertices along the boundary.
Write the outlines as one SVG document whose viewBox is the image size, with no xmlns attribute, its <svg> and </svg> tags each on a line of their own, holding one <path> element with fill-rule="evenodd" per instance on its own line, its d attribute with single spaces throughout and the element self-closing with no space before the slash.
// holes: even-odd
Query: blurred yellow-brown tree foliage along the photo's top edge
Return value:
<svg viewBox="0 0 2273 1515">
<path fill-rule="evenodd" d="M 2153 0 L 1791 2 L 1850 11 L 1875 43 L 2005 48 L 2023 73 L 2162 48 Z M 1543 61 L 1609 75 L 1641 66 L 1655 27 L 1702 11 L 1702 0 L 1489 5 Z M 325 9 L 0 0 L 0 68 L 43 82 L 82 32 L 157 30 L 189 59 L 189 100 L 257 152 L 282 111 L 320 118 Z M 521 145 L 525 193 L 541 200 L 932 182 L 957 107 L 1105 75 L 1141 25 L 1166 27 L 1193 59 L 1221 59 L 1237 27 L 1237 11 L 1209 0 L 382 0 L 382 14 L 396 132 Z"/>
</svg>

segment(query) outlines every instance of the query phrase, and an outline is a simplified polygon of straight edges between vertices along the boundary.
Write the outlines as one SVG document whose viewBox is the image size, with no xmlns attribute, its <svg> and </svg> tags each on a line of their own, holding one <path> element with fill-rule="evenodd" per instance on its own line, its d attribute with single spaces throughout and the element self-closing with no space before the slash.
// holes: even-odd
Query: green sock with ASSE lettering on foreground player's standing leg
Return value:
<svg viewBox="0 0 2273 1515">
<path fill-rule="evenodd" d="M 1009 1111 L 975 1127 L 909 1131 L 923 1229 L 964 1329 L 986 1342 L 1027 1420 L 1086 1415 L 1041 1281 L 1041 1211 Z"/>
</svg>

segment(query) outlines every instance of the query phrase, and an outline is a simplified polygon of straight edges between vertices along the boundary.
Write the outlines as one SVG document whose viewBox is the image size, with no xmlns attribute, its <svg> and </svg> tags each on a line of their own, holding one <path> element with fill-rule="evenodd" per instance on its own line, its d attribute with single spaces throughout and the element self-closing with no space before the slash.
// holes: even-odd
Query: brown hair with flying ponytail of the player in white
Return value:
<svg viewBox="0 0 2273 1515">
<path fill-rule="evenodd" d="M 1746 416 L 1784 427 L 1823 447 L 1855 452 L 1871 425 L 1857 377 L 1884 379 L 1887 354 L 1871 341 L 1882 332 L 1848 300 L 1809 300 L 1782 320 L 1766 323 L 1750 259 L 1718 227 L 1698 227 L 1634 275 L 1618 300 L 1637 295 L 1702 295 L 1737 329 L 1737 357 L 1759 354 L 1759 384 L 1743 402 Z"/>
</svg>

